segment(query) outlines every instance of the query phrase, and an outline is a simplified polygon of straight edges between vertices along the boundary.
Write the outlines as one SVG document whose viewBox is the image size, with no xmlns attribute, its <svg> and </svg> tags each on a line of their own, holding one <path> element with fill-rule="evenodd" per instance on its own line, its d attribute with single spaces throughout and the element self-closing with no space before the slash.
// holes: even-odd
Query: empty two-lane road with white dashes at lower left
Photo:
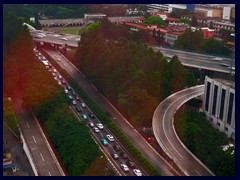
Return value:
<svg viewBox="0 0 240 180">
<path fill-rule="evenodd" d="M 39 130 L 36 119 L 31 110 L 24 111 L 21 107 L 21 99 L 14 104 L 15 112 L 19 120 L 19 126 L 23 133 L 28 148 L 31 152 L 33 162 L 39 176 L 61 176 L 57 165 L 48 150 L 44 138 Z"/>
</svg>

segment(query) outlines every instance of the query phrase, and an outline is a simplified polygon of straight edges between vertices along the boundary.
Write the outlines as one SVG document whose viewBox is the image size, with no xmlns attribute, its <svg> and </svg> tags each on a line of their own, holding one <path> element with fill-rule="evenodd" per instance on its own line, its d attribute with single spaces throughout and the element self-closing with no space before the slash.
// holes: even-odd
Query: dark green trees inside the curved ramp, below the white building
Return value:
<svg viewBox="0 0 240 180">
<path fill-rule="evenodd" d="M 235 153 L 221 148 L 228 144 L 228 138 L 209 124 L 204 113 L 183 111 L 175 121 L 175 125 L 178 121 L 182 122 L 179 129 L 176 128 L 180 139 L 214 174 L 235 175 Z"/>
</svg>

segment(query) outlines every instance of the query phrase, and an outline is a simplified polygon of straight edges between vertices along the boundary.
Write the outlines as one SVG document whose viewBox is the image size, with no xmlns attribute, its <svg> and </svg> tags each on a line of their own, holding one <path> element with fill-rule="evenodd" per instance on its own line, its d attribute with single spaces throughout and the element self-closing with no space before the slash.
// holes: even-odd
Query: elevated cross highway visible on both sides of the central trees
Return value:
<svg viewBox="0 0 240 180">
<path fill-rule="evenodd" d="M 32 30 L 30 31 L 35 42 L 45 42 L 50 44 L 65 45 L 77 48 L 81 37 L 79 35 L 57 34 L 50 31 Z M 150 46 L 154 51 L 160 51 L 164 56 L 171 58 L 174 55 L 184 66 L 194 67 L 197 69 L 205 69 L 222 73 L 230 73 L 230 67 L 233 67 L 232 73 L 235 74 L 235 58 L 225 58 L 211 56 L 187 51 L 174 50 L 161 46 Z"/>
</svg>

